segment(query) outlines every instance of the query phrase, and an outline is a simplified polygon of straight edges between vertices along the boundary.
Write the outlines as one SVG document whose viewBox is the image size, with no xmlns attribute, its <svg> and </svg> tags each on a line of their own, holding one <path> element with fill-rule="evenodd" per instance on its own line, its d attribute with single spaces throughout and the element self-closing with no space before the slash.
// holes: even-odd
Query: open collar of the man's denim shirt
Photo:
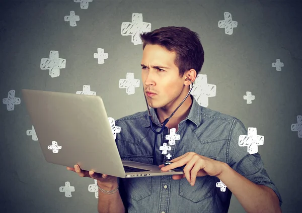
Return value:
<svg viewBox="0 0 302 213">
<path fill-rule="evenodd" d="M 202 122 L 202 118 L 201 118 L 201 111 L 203 109 L 203 107 L 201 105 L 198 104 L 198 102 L 196 101 L 196 99 L 193 97 L 193 95 L 191 95 L 191 98 L 193 100 L 189 115 L 187 116 L 186 120 L 190 120 L 191 122 L 193 122 L 196 127 L 199 127 L 201 125 Z M 152 116 L 152 120 L 153 123 L 159 127 L 161 127 L 160 121 L 156 115 L 155 109 L 154 108 L 150 108 L 150 115 Z M 149 121 L 149 116 L 148 116 L 148 112 L 146 111 L 146 123 L 143 125 L 143 127 L 150 127 L 150 121 Z"/>
</svg>

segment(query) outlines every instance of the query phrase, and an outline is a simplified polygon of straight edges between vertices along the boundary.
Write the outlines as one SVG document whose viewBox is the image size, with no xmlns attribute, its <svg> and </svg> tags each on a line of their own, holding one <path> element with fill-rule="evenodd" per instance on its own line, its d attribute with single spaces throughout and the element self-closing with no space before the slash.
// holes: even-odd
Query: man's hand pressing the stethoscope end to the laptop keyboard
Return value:
<svg viewBox="0 0 302 213">
<path fill-rule="evenodd" d="M 211 158 L 204 157 L 195 152 L 187 152 L 186 154 L 172 159 L 170 165 L 159 165 L 162 171 L 168 171 L 177 167 L 184 167 L 184 174 L 173 175 L 174 180 L 181 178 L 187 178 L 188 182 L 193 186 L 195 184 L 196 177 L 202 177 L 205 175 L 218 176 L 222 172 L 221 161 L 213 160 Z"/>
</svg>

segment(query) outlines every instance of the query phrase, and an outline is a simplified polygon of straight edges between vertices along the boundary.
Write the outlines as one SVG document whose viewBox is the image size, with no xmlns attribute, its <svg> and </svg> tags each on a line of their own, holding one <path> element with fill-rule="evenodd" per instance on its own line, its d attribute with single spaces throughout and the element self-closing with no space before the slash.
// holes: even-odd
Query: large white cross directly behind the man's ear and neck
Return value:
<svg viewBox="0 0 302 213">
<path fill-rule="evenodd" d="M 208 107 L 209 97 L 216 96 L 216 85 L 207 83 L 207 76 L 198 74 L 191 93 L 199 105 Z"/>
</svg>

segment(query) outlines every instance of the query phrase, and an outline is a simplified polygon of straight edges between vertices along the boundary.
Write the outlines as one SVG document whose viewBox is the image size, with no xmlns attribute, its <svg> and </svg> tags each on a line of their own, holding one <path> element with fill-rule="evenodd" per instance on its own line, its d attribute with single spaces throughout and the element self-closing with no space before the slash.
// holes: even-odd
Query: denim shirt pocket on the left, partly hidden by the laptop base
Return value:
<svg viewBox="0 0 302 213">
<path fill-rule="evenodd" d="M 123 159 L 147 164 L 152 164 L 153 160 L 149 157 L 127 157 Z M 124 178 L 124 184 L 128 197 L 136 201 L 152 194 L 152 177 Z"/>
</svg>

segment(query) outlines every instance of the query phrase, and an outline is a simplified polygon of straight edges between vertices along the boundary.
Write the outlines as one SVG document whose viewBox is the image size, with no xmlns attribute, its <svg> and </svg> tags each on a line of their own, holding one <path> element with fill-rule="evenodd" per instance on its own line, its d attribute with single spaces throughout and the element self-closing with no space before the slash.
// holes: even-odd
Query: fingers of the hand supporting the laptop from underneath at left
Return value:
<svg viewBox="0 0 302 213">
<path fill-rule="evenodd" d="M 80 177 L 90 177 L 90 178 L 99 180 L 103 183 L 106 183 L 106 182 L 111 182 L 112 183 L 112 182 L 117 181 L 117 177 L 114 177 L 114 176 L 110 176 L 110 175 L 107 175 L 107 174 L 100 174 L 100 173 L 97 173 L 97 172 L 94 172 L 94 171 L 82 170 L 78 164 L 75 164 L 74 168 L 67 166 L 66 169 L 70 170 L 70 171 L 73 171 L 73 172 L 76 172 Z"/>
</svg>

